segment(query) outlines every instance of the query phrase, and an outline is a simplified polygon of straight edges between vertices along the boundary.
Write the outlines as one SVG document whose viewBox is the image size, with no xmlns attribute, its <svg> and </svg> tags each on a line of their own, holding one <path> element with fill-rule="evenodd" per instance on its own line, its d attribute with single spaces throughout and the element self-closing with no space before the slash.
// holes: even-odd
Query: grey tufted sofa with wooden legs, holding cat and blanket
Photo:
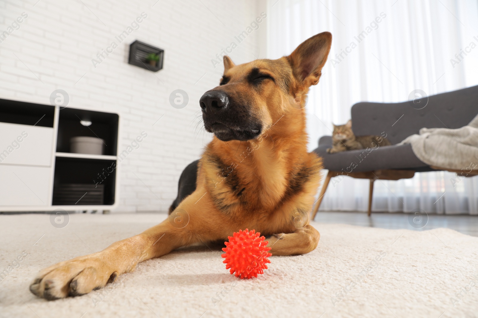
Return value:
<svg viewBox="0 0 478 318">
<path fill-rule="evenodd" d="M 351 110 L 352 130 L 355 135 L 386 133 L 392 145 L 379 147 L 370 152 L 362 149 L 328 154 L 326 149 L 331 147 L 332 137 L 321 137 L 314 152 L 322 157 L 324 168 L 329 172 L 314 206 L 312 219 L 315 218 L 327 185 L 333 177 L 348 175 L 370 180 L 370 215 L 375 180 L 399 180 L 411 178 L 415 172 L 448 170 L 431 167 L 422 162 L 413 154 L 410 144 L 397 144 L 406 137 L 418 133 L 423 127 L 450 129 L 463 127 L 477 114 L 478 86 L 403 103 L 356 103 Z"/>
</svg>

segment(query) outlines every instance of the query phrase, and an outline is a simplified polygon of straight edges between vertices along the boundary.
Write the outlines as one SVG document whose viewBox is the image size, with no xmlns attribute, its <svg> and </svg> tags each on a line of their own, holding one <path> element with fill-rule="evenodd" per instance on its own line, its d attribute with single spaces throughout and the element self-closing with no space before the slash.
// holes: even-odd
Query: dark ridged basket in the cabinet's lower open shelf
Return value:
<svg viewBox="0 0 478 318">
<path fill-rule="evenodd" d="M 53 205 L 103 205 L 105 185 L 62 184 L 54 187 Z"/>
</svg>

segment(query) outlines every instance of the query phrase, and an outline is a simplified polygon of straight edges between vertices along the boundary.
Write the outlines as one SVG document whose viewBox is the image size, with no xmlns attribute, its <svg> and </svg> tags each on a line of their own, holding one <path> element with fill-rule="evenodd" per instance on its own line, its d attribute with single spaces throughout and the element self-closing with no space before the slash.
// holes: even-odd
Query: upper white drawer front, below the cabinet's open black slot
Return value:
<svg viewBox="0 0 478 318">
<path fill-rule="evenodd" d="M 0 165 L 50 166 L 53 128 L 0 123 Z"/>
</svg>

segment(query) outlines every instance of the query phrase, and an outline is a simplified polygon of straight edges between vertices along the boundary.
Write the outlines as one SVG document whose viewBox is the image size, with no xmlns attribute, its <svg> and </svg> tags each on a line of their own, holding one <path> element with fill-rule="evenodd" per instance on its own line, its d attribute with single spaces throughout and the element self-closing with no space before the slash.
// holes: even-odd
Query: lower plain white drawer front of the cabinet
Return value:
<svg viewBox="0 0 478 318">
<path fill-rule="evenodd" d="M 49 167 L 0 164 L 0 210 L 6 205 L 50 205 Z"/>
</svg>

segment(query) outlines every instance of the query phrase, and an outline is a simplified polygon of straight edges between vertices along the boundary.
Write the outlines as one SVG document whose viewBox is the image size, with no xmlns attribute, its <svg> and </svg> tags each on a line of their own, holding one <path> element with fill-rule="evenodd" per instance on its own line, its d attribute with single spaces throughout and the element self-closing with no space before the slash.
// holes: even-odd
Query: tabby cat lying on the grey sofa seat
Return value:
<svg viewBox="0 0 478 318">
<path fill-rule="evenodd" d="M 391 143 L 382 136 L 356 136 L 352 132 L 352 121 L 349 120 L 345 125 L 334 125 L 332 148 L 328 148 L 327 153 L 333 154 L 367 147 L 376 148 L 377 145 L 381 147 L 391 145 Z"/>
</svg>

